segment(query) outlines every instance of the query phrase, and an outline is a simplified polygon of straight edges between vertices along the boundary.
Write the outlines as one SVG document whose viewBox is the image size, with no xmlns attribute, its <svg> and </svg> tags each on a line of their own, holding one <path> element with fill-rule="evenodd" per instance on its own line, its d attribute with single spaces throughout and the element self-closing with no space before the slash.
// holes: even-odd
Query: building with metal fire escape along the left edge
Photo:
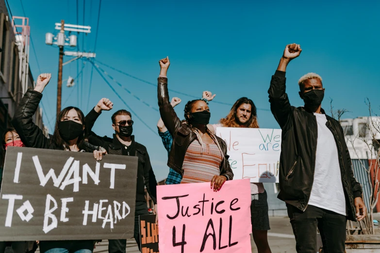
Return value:
<svg viewBox="0 0 380 253">
<path fill-rule="evenodd" d="M 30 28 L 28 18 L 8 14 L 5 1 L 0 0 L 0 134 L 11 127 L 17 105 L 28 88 L 34 88 L 29 68 Z M 17 25 L 20 22 L 20 25 Z M 34 123 L 44 130 L 42 110 L 33 116 Z"/>
</svg>

